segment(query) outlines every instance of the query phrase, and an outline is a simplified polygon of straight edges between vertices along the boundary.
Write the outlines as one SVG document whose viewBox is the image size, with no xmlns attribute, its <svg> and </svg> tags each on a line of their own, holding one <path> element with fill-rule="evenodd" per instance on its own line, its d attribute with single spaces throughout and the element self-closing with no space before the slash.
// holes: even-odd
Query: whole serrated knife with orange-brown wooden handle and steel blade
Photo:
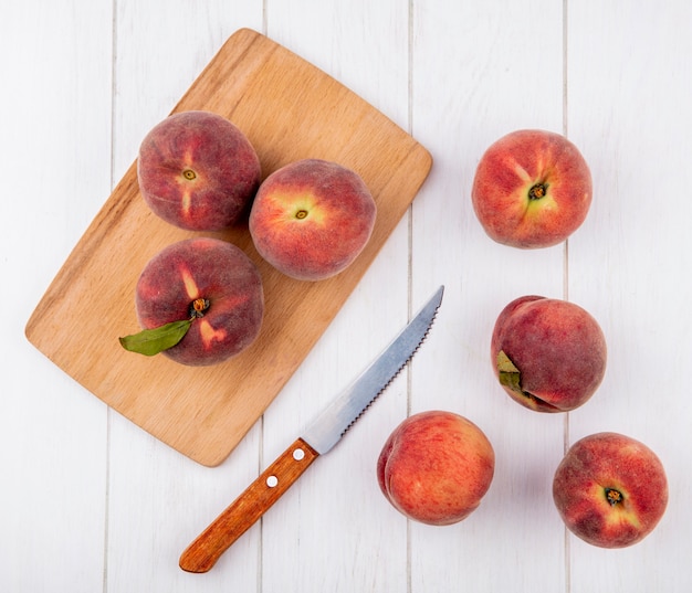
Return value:
<svg viewBox="0 0 692 593">
<path fill-rule="evenodd" d="M 209 571 L 319 455 L 339 442 L 413 357 L 432 326 L 443 292 L 444 286 L 440 286 L 379 357 L 307 426 L 303 436 L 296 438 L 188 546 L 179 561 L 184 571 Z"/>
</svg>

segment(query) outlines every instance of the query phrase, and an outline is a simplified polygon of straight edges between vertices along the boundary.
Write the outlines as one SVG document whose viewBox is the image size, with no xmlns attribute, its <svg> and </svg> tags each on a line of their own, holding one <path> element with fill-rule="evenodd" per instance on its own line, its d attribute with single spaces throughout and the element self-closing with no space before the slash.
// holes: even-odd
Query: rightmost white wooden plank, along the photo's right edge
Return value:
<svg viewBox="0 0 692 593">
<path fill-rule="evenodd" d="M 589 216 L 570 240 L 569 294 L 608 343 L 604 382 L 570 414 L 570 443 L 600 431 L 638 438 L 670 487 L 665 516 L 640 543 L 604 551 L 572 537 L 570 586 L 690 591 L 692 411 L 681 371 L 692 357 L 692 7 L 570 2 L 568 22 L 569 129 L 594 177 Z"/>
</svg>

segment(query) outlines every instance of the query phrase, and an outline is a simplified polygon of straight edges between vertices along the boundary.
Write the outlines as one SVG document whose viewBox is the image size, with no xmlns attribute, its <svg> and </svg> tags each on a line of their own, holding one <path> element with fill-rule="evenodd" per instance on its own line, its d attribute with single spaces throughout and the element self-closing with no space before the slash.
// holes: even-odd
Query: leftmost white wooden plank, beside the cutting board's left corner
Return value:
<svg viewBox="0 0 692 593">
<path fill-rule="evenodd" d="M 111 4 L 30 0 L 0 25 L 0 284 L 17 299 L 0 330 L 0 591 L 103 583 L 106 406 L 22 332 L 111 188 Z"/>
</svg>

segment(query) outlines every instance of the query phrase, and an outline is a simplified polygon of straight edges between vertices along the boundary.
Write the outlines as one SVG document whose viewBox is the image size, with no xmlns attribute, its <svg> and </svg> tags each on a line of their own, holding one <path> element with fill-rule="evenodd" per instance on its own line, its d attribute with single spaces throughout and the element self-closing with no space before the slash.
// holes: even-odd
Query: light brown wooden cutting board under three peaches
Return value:
<svg viewBox="0 0 692 593">
<path fill-rule="evenodd" d="M 175 112 L 207 109 L 250 139 L 263 177 L 302 158 L 358 172 L 378 208 L 370 242 L 349 268 L 318 283 L 287 278 L 253 248 L 247 224 L 207 233 L 258 264 L 265 317 L 255 342 L 216 367 L 190 368 L 125 351 L 139 329 L 135 284 L 178 230 L 144 203 L 136 162 L 117 184 L 33 311 L 27 337 L 94 395 L 181 454 L 220 464 L 291 378 L 400 221 L 430 170 L 429 152 L 349 89 L 268 38 L 235 32 Z"/>
</svg>

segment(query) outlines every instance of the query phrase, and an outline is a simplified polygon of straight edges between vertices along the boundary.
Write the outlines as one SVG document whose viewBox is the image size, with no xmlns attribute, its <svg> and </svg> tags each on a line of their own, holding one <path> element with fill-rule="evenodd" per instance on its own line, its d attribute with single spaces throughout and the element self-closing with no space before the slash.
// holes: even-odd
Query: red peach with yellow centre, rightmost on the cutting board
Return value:
<svg viewBox="0 0 692 593">
<path fill-rule="evenodd" d="M 375 200 L 355 171 L 304 159 L 274 171 L 260 186 L 250 234 L 259 254 L 281 273 L 321 280 L 356 260 L 376 214 Z"/>
</svg>

